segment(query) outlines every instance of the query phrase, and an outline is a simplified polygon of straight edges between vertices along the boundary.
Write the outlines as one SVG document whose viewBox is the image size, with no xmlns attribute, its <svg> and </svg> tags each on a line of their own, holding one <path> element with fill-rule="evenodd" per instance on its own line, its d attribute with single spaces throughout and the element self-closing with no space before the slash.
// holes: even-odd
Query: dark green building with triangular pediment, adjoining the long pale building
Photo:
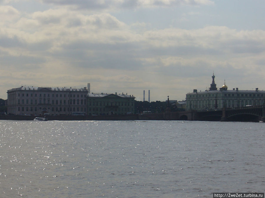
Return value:
<svg viewBox="0 0 265 198">
<path fill-rule="evenodd" d="M 127 94 L 87 94 L 87 115 L 134 114 L 135 97 Z"/>
</svg>

